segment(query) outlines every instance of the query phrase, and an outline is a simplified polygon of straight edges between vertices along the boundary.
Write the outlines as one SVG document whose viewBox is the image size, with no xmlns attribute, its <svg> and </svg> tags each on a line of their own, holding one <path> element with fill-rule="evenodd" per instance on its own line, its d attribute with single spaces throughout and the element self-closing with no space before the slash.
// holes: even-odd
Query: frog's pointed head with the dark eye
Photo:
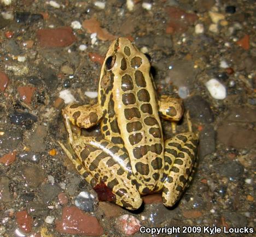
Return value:
<svg viewBox="0 0 256 237">
<path fill-rule="evenodd" d="M 132 90 L 136 86 L 136 76 L 149 73 L 150 62 L 146 55 L 140 52 L 129 39 L 117 38 L 110 45 L 101 68 L 98 100 L 104 104 L 109 91 Z M 136 71 L 139 71 L 136 73 Z M 135 82 L 136 81 L 136 82 Z M 119 86 L 120 85 L 120 86 Z M 114 93 L 114 91 L 113 91 Z"/>
</svg>

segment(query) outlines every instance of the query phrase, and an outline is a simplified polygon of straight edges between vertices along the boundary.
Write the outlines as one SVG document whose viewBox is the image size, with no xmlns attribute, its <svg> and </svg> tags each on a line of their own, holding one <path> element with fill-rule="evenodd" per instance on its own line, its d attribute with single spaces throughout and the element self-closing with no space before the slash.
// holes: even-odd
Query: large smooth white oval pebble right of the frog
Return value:
<svg viewBox="0 0 256 237">
<path fill-rule="evenodd" d="M 226 98 L 226 87 L 222 85 L 217 79 L 211 79 L 206 82 L 205 86 L 214 99 Z"/>
</svg>

